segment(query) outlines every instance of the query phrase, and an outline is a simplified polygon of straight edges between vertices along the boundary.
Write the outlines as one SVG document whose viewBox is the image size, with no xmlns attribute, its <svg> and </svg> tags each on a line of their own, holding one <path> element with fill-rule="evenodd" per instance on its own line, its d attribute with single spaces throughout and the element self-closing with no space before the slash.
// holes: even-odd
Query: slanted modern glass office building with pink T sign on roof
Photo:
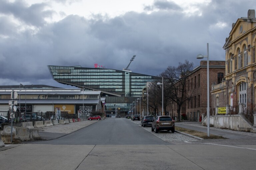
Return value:
<svg viewBox="0 0 256 170">
<path fill-rule="evenodd" d="M 158 78 L 129 70 L 51 65 L 48 68 L 52 78 L 59 83 L 101 91 L 101 96 L 106 97 L 107 114 L 116 109 L 128 113 L 130 104 L 142 96 L 146 82 Z"/>
</svg>

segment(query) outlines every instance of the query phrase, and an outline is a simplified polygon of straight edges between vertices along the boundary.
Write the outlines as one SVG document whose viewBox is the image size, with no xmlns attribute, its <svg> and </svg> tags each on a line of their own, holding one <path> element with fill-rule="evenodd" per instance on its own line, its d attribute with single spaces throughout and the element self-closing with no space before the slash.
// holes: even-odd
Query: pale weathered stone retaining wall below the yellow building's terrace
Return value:
<svg viewBox="0 0 256 170">
<path fill-rule="evenodd" d="M 202 125 L 207 126 L 207 116 L 202 120 Z M 242 114 L 210 116 L 210 126 L 256 133 L 256 127 L 251 125 Z"/>
</svg>

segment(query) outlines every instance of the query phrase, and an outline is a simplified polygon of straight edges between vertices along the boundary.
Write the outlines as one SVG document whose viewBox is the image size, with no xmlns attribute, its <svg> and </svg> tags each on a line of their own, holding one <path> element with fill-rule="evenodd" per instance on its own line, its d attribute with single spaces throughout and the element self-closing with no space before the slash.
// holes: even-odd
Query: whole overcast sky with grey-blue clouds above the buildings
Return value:
<svg viewBox="0 0 256 170">
<path fill-rule="evenodd" d="M 55 82 L 47 65 L 159 75 L 222 48 L 255 0 L 0 0 L 0 85 Z"/>
</svg>

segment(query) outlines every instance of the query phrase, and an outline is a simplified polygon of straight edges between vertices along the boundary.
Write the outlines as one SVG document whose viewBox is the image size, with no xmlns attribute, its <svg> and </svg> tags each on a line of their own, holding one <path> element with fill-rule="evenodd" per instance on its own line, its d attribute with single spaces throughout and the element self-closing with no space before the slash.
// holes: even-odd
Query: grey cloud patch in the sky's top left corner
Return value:
<svg viewBox="0 0 256 170">
<path fill-rule="evenodd" d="M 32 26 L 43 26 L 46 22 L 44 18 L 51 17 L 54 11 L 44 10 L 46 3 L 28 6 L 24 1 L 13 3 L 7 0 L 0 0 L 0 14 L 13 15 L 14 18 Z"/>
</svg>

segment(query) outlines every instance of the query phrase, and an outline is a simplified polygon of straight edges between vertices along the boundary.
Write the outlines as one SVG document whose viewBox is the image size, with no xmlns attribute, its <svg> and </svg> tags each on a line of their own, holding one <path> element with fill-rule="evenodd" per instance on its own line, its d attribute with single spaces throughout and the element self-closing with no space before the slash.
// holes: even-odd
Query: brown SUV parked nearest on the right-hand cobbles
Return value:
<svg viewBox="0 0 256 170">
<path fill-rule="evenodd" d="M 157 116 L 155 121 L 152 122 L 151 131 L 158 133 L 160 130 L 175 131 L 174 120 L 171 116 Z"/>
</svg>

